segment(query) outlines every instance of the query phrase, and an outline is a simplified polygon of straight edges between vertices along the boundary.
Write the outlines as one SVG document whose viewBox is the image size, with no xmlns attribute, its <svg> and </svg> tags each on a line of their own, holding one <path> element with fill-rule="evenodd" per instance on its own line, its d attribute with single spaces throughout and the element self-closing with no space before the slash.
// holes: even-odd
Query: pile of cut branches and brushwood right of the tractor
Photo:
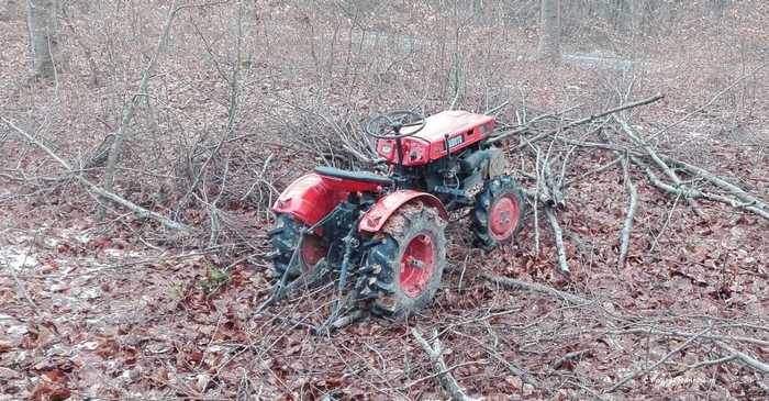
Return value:
<svg viewBox="0 0 769 401">
<path fill-rule="evenodd" d="M 769 207 L 759 196 L 704 168 L 667 156 L 634 130 L 628 122 L 632 109 L 662 98 L 657 94 L 626 102 L 580 119 L 567 119 L 565 112 L 560 112 L 540 114 L 526 121 L 521 113 L 516 113 L 517 121 L 501 123 L 489 141 L 492 144 L 502 143 L 511 152 L 512 159 L 522 160 L 517 174 L 530 182 L 524 192 L 534 210 L 535 249 L 539 249 L 539 216 L 544 214 L 555 238 L 556 263 L 564 275 L 568 276 L 570 270 L 558 212 L 571 207 L 568 202 L 569 187 L 612 168 L 621 171 L 627 192 L 626 218 L 618 233 L 618 268 L 626 265 L 634 216 L 643 207 L 637 193 L 637 186 L 640 185 L 649 185 L 677 199 L 682 198 L 698 216 L 705 213 L 699 202 L 704 200 L 769 221 Z M 577 165 L 575 161 L 580 155 L 594 153 L 611 154 L 613 159 L 589 170 L 576 170 L 571 166 Z M 571 177 L 567 177 L 567 172 Z M 640 181 L 637 177 L 646 180 Z"/>
</svg>

